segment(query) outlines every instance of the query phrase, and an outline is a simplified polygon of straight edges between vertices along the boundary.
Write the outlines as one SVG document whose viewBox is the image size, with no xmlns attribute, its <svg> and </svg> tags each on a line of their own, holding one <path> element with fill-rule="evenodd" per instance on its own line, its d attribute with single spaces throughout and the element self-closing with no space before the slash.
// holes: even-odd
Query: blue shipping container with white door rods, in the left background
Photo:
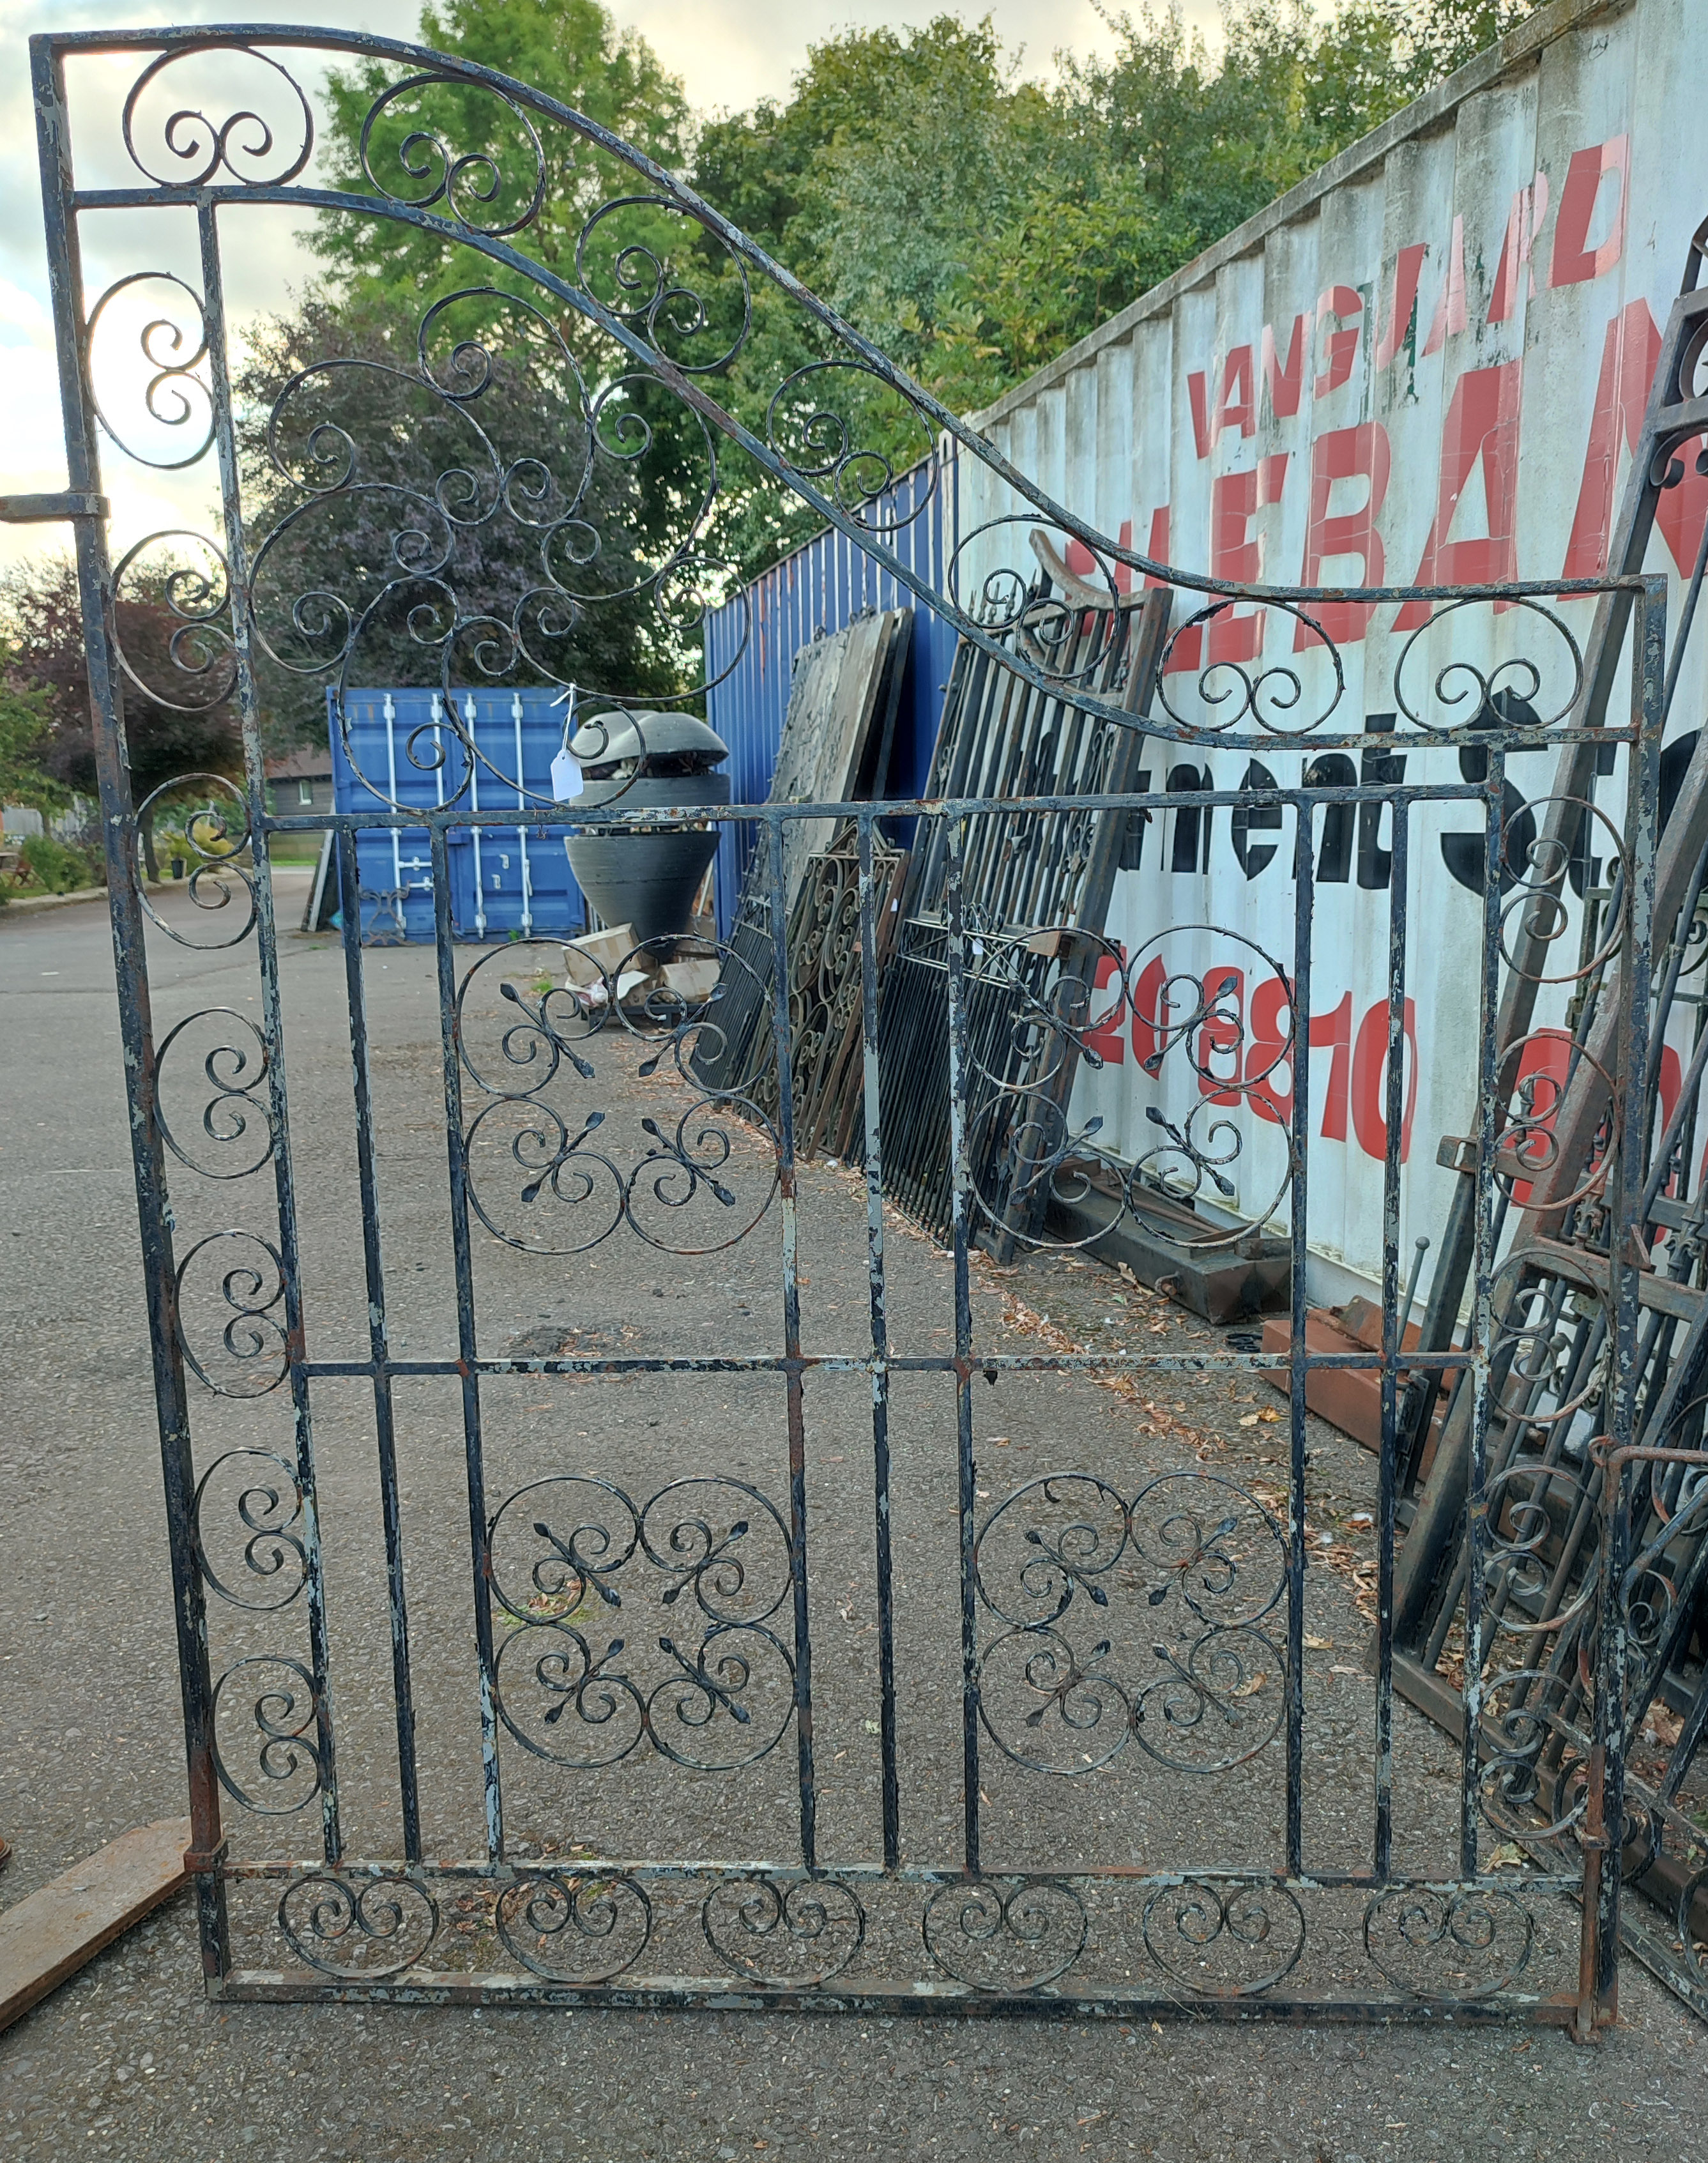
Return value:
<svg viewBox="0 0 1708 2163">
<path fill-rule="evenodd" d="M 551 761 L 564 742 L 564 694 L 551 688 L 458 690 L 456 712 L 478 757 L 461 796 L 471 811 L 538 811 L 551 800 Z M 326 694 L 333 744 L 333 809 L 385 811 L 391 802 L 441 805 L 469 772 L 458 738 L 443 729 L 437 690 L 352 690 L 346 753 Z M 521 783 L 521 787 L 517 785 Z M 357 876 L 370 893 L 404 893 L 411 939 L 432 939 L 432 857 L 426 826 L 372 828 L 357 837 Z M 363 906 L 363 921 L 374 906 Z M 562 833 L 452 826 L 450 915 L 458 939 L 543 932 L 575 937 L 588 906 L 569 870 Z"/>
</svg>

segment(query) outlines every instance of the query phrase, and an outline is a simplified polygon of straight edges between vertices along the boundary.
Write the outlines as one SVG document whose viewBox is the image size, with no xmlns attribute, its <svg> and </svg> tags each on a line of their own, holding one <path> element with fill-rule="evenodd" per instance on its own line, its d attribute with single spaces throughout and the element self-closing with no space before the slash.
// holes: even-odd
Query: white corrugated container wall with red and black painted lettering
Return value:
<svg viewBox="0 0 1708 2163">
<path fill-rule="evenodd" d="M 988 435 L 1103 532 L 1196 571 L 1289 584 L 1598 571 L 1658 327 L 1708 216 L 1699 58 L 1702 0 L 1563 0 L 1005 398 L 984 420 Z M 1650 558 L 1673 573 L 1673 597 L 1708 506 L 1708 480 L 1686 465 Z M 962 536 L 1018 508 L 975 461 L 962 461 L 960 489 Z M 979 567 L 975 547 L 962 593 Z M 1343 634 L 1347 725 L 1397 712 L 1397 614 L 1377 610 Z M 1587 601 L 1563 603 L 1578 638 L 1589 614 Z M 1293 653 L 1291 616 L 1271 610 L 1258 629 L 1235 623 L 1219 640 L 1237 658 L 1297 666 L 1297 712 L 1321 707 L 1327 664 L 1321 651 Z M 1410 703 L 1455 658 L 1487 671 L 1520 653 L 1542 664 L 1535 703 L 1550 712 L 1550 692 L 1557 705 L 1570 686 L 1565 647 L 1524 610 L 1479 608 L 1433 627 L 1405 664 Z M 1204 720 L 1196 684 L 1185 671 L 1165 690 L 1183 718 Z M 1699 725 L 1702 703 L 1697 649 L 1673 735 Z M 1455 755 L 1420 742 L 1401 720 L 1412 779 L 1449 779 Z M 1284 729 L 1273 744 L 1263 766 L 1297 783 L 1308 746 Z M 1146 759 L 1157 787 L 1187 766 L 1239 787 L 1247 755 L 1157 742 Z M 1526 755 L 1513 772 L 1539 798 L 1552 755 Z M 1617 820 L 1624 777 L 1600 792 Z M 1239 831 L 1224 811 L 1209 835 L 1193 824 L 1193 813 L 1152 820 L 1139 867 L 1118 878 L 1109 930 L 1165 971 L 1237 973 L 1250 1058 L 1265 1027 L 1256 995 L 1273 978 L 1260 954 L 1293 971 L 1289 852 L 1265 857 L 1260 831 Z M 1472 1120 L 1481 904 L 1449 870 L 1442 835 L 1455 826 L 1453 807 L 1420 807 L 1412 826 L 1418 1086 L 1405 1244 L 1436 1233 L 1446 1209 L 1438 1136 Z M 1364 1027 L 1386 999 L 1386 815 L 1347 828 L 1319 846 L 1310 986 L 1310 1224 L 1323 1293 L 1373 1278 L 1382 1235 L 1384 1023 Z M 1561 1014 L 1563 993 L 1539 1021 Z M 1103 1142 L 1131 1157 L 1155 1138 L 1144 1112 L 1157 1084 L 1129 1032 L 1103 1049 L 1109 1064 L 1083 1071 L 1075 1120 L 1103 1114 Z M 1273 1086 L 1284 1097 L 1286 1069 Z M 1226 1116 L 1243 1133 L 1237 1207 L 1263 1213 L 1284 1179 L 1280 1129 L 1245 1101 Z"/>
</svg>

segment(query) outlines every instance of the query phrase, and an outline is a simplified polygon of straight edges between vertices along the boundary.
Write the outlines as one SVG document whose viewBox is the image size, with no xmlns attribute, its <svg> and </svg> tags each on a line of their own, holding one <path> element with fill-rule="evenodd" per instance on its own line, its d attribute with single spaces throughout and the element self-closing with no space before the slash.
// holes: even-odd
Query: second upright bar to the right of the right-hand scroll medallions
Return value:
<svg viewBox="0 0 1708 2163">
<path fill-rule="evenodd" d="M 1407 802 L 1392 802 L 1388 865 L 1388 1146 L 1382 1157 L 1382 1460 L 1377 1469 L 1375 1577 L 1375 1875 L 1386 1880 L 1395 1854 L 1395 1497 L 1399 1492 L 1399 1361 L 1405 1313 L 1399 1311 L 1399 1166 L 1405 1142 L 1405 1094 L 1416 1075 L 1405 1066 L 1405 878 Z M 1418 1257 L 1423 1259 L 1423 1257 Z"/>
</svg>

